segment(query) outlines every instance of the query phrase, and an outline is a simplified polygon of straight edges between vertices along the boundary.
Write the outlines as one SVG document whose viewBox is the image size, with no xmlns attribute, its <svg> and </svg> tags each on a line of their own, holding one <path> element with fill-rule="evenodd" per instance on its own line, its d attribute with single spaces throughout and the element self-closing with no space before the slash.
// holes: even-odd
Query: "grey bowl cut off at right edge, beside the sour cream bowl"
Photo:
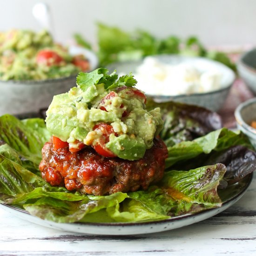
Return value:
<svg viewBox="0 0 256 256">
<path fill-rule="evenodd" d="M 241 56 L 237 70 L 245 84 L 256 94 L 256 48 Z"/>
</svg>

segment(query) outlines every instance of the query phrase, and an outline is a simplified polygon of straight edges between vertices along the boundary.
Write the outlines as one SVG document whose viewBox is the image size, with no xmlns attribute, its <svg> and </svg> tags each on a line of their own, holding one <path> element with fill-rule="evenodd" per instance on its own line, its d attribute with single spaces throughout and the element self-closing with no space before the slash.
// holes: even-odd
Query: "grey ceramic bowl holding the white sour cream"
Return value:
<svg viewBox="0 0 256 256">
<path fill-rule="evenodd" d="M 219 70 L 222 74 L 221 84 L 222 89 L 211 91 L 209 93 L 198 93 L 198 94 L 181 94 L 181 95 L 147 95 L 152 96 L 155 101 L 165 102 L 165 101 L 180 101 L 187 104 L 194 104 L 208 108 L 212 111 L 219 110 L 224 104 L 230 87 L 235 81 L 235 73 L 229 68 L 223 65 L 220 62 L 212 61 L 206 58 L 199 57 L 185 57 L 181 55 L 156 55 L 154 56 L 158 61 L 166 64 L 180 64 L 180 63 L 189 63 L 193 64 L 199 71 L 203 72 L 211 68 Z M 128 62 L 117 62 L 108 66 L 110 72 L 116 69 L 118 74 L 129 74 L 132 72 L 135 74 L 136 68 L 142 64 L 141 61 L 128 61 Z"/>
</svg>

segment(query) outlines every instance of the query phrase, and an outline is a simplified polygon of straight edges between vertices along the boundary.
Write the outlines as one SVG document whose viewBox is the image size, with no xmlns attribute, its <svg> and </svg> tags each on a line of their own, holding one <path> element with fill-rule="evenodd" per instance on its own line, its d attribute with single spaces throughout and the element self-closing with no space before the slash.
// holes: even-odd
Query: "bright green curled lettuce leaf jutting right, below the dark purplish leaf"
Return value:
<svg viewBox="0 0 256 256">
<path fill-rule="evenodd" d="M 173 166 L 175 163 L 193 159 L 201 154 L 209 154 L 213 150 L 220 152 L 236 145 L 252 149 L 249 139 L 243 133 L 233 132 L 227 128 L 213 131 L 193 141 L 182 141 L 168 147 L 166 168 Z"/>
</svg>

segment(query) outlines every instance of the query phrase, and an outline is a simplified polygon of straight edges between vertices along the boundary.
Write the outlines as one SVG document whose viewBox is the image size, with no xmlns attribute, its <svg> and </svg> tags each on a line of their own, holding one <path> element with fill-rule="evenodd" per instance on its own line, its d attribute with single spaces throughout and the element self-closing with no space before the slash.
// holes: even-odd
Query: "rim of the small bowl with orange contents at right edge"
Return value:
<svg viewBox="0 0 256 256">
<path fill-rule="evenodd" d="M 244 120 L 243 117 L 241 115 L 241 111 L 243 108 L 246 108 L 252 104 L 256 104 L 256 97 L 249 99 L 247 101 L 244 101 L 243 103 L 239 104 L 238 107 L 236 108 L 234 115 L 235 115 L 235 119 L 236 119 L 236 123 L 238 126 L 242 127 L 243 129 L 245 129 L 245 131 L 251 133 L 251 135 L 255 135 L 256 136 L 256 129 L 251 127 L 249 124 L 247 124 Z"/>
</svg>

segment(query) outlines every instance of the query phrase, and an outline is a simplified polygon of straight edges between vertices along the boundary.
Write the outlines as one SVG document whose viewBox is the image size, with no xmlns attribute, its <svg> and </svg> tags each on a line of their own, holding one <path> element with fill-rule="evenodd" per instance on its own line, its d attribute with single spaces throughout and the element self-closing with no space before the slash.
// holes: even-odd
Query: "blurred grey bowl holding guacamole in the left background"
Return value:
<svg viewBox="0 0 256 256">
<path fill-rule="evenodd" d="M 71 55 L 83 54 L 90 63 L 90 71 L 98 67 L 98 58 L 87 49 L 69 48 Z M 0 81 L 0 115 L 38 112 L 47 108 L 53 96 L 76 86 L 76 75 L 38 81 Z"/>
</svg>

